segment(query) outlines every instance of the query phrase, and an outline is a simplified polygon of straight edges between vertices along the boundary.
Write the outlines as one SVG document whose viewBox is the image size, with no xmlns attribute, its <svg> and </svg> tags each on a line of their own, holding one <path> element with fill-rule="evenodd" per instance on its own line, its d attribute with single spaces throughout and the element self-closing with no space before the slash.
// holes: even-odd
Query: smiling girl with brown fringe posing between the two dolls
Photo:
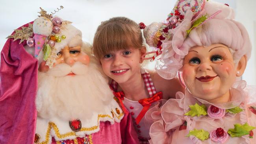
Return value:
<svg viewBox="0 0 256 144">
<path fill-rule="evenodd" d="M 141 30 L 134 21 L 115 17 L 98 26 L 93 53 L 104 73 L 112 79 L 110 86 L 120 104 L 133 116 L 139 139 L 144 143 L 150 138 L 152 121 L 145 119 L 150 106 L 151 110 L 157 109 L 161 98 L 174 98 L 177 91 L 184 91 L 178 79 L 166 80 L 143 69 L 146 52 Z"/>
</svg>

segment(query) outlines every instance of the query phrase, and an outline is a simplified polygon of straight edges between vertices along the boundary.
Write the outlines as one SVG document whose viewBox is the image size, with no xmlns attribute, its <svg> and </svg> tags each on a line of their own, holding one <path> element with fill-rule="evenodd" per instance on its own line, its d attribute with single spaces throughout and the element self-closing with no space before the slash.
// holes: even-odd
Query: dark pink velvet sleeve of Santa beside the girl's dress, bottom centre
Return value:
<svg viewBox="0 0 256 144">
<path fill-rule="evenodd" d="M 139 144 L 139 139 L 132 122 L 131 114 L 125 113 L 120 122 L 122 144 Z"/>
</svg>

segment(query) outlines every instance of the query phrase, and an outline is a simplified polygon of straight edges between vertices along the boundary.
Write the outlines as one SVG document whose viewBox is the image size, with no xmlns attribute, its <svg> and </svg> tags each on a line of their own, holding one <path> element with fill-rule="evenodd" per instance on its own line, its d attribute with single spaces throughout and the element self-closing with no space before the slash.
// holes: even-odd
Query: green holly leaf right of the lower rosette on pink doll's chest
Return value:
<svg viewBox="0 0 256 144">
<path fill-rule="evenodd" d="M 255 129 L 255 127 L 249 126 L 249 124 L 245 123 L 243 125 L 241 124 L 234 124 L 234 129 L 228 129 L 228 134 L 231 137 L 241 137 L 243 135 L 249 135 L 250 131 L 252 129 Z"/>
</svg>

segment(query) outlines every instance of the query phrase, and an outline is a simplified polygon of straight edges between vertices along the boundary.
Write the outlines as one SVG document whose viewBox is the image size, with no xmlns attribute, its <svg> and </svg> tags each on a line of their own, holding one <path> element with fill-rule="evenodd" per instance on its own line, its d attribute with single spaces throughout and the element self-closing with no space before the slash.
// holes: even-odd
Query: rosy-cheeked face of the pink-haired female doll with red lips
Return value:
<svg viewBox="0 0 256 144">
<path fill-rule="evenodd" d="M 182 75 L 187 89 L 208 102 L 224 102 L 236 80 L 233 56 L 227 46 L 195 46 L 184 58 Z"/>
</svg>

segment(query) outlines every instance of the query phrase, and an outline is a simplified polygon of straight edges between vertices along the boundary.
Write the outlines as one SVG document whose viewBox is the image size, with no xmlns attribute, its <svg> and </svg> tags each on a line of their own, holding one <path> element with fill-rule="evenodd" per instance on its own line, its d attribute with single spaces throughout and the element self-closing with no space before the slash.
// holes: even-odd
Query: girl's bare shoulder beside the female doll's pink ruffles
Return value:
<svg viewBox="0 0 256 144">
<path fill-rule="evenodd" d="M 175 98 L 176 92 L 183 92 L 185 88 L 182 86 L 178 78 L 164 79 L 156 71 L 147 70 L 150 74 L 152 82 L 157 92 L 163 92 L 163 99 Z"/>
</svg>

